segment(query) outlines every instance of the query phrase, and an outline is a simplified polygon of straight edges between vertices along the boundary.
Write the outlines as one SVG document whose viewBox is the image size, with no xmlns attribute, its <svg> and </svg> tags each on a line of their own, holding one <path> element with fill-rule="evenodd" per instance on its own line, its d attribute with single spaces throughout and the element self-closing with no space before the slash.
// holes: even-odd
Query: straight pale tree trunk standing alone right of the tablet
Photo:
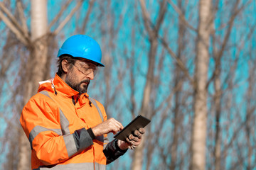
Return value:
<svg viewBox="0 0 256 170">
<path fill-rule="evenodd" d="M 198 40 L 196 47 L 196 89 L 194 94 L 194 120 L 191 137 L 191 170 L 203 170 L 206 166 L 207 133 L 207 79 L 210 38 L 210 0 L 199 2 Z"/>
</svg>

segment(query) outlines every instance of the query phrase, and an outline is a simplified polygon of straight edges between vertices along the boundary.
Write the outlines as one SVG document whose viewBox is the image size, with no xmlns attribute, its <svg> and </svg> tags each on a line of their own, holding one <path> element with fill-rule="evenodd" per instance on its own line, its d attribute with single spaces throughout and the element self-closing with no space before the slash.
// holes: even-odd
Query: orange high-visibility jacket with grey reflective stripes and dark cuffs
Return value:
<svg viewBox="0 0 256 170">
<path fill-rule="evenodd" d="M 58 77 L 42 81 L 21 113 L 31 144 L 32 169 L 105 169 L 125 153 L 107 135 L 93 137 L 90 128 L 107 120 L 101 103 L 78 94 Z M 107 159 L 106 159 L 107 157 Z"/>
</svg>

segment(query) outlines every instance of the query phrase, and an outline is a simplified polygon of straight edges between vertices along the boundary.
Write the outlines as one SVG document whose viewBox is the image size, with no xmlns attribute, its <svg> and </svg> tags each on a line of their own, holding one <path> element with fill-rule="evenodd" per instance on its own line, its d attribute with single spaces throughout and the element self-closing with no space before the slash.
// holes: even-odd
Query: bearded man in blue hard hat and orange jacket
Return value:
<svg viewBox="0 0 256 170">
<path fill-rule="evenodd" d="M 101 103 L 87 87 L 101 63 L 100 46 L 86 35 L 74 35 L 58 52 L 54 79 L 39 83 L 21 113 L 21 125 L 31 144 L 32 169 L 105 169 L 106 164 L 139 145 L 144 129 L 127 141 L 108 142 L 107 134 L 123 126 L 107 119 Z"/>
</svg>

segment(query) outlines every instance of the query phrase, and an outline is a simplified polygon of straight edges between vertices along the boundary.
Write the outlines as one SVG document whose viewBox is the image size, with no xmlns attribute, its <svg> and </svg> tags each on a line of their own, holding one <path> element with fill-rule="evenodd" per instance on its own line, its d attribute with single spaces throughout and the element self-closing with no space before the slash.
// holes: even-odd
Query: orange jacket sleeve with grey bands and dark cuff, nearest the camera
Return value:
<svg viewBox="0 0 256 170">
<path fill-rule="evenodd" d="M 58 121 L 59 108 L 48 97 L 38 95 L 23 108 L 20 122 L 31 149 L 43 164 L 63 162 L 93 145 L 92 137 L 85 128 L 63 135 Z"/>
</svg>

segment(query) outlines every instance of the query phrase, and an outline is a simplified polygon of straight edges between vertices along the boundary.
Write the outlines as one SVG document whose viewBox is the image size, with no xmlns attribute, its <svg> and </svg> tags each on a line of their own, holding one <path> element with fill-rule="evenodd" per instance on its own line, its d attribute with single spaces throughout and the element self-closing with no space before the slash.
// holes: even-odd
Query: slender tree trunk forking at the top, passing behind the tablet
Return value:
<svg viewBox="0 0 256 170">
<path fill-rule="evenodd" d="M 151 118 L 153 116 L 152 115 L 153 113 L 150 112 L 149 106 L 150 106 L 151 91 L 153 90 L 153 84 L 154 84 L 154 65 L 156 61 L 156 52 L 158 47 L 157 35 L 161 27 L 161 23 L 164 20 L 164 15 L 166 13 L 166 0 L 161 1 L 161 3 L 159 4 L 160 10 L 159 10 L 159 15 L 156 21 L 156 25 L 154 26 L 154 29 L 152 29 L 150 26 L 151 19 L 149 17 L 148 11 L 146 11 L 145 1 L 140 0 L 139 3 L 142 7 L 142 17 L 144 21 L 144 26 L 147 33 L 149 34 L 149 42 L 150 42 L 150 50 L 148 55 L 149 67 L 147 68 L 147 72 L 146 72 L 146 85 L 144 87 L 142 106 L 139 110 L 139 114 L 146 115 L 146 117 Z M 144 138 L 140 143 L 139 147 L 137 147 L 134 150 L 132 170 L 142 169 L 142 162 L 144 158 L 143 153 L 144 153 L 144 147 L 145 147 L 145 141 L 146 141 L 145 137 L 146 135 L 144 135 Z"/>
</svg>

